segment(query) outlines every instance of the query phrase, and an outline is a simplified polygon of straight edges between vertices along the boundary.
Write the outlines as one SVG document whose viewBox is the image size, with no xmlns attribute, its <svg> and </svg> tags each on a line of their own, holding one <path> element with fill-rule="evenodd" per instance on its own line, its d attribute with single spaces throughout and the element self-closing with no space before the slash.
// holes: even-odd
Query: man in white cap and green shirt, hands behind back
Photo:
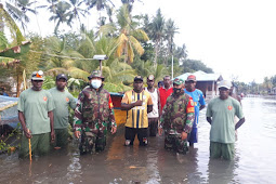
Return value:
<svg viewBox="0 0 276 184">
<path fill-rule="evenodd" d="M 232 160 L 234 158 L 235 130 L 245 122 L 240 103 L 229 96 L 231 82 L 223 80 L 219 84 L 220 97 L 210 101 L 207 108 L 207 121 L 211 124 L 210 157 Z M 239 121 L 235 124 L 234 117 Z"/>
</svg>

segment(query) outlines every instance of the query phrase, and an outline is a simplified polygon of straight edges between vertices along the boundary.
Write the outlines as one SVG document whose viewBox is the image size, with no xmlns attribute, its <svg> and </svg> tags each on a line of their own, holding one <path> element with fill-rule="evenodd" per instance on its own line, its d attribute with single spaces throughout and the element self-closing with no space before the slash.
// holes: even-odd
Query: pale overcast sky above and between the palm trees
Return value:
<svg viewBox="0 0 276 184">
<path fill-rule="evenodd" d="M 165 18 L 172 18 L 179 27 L 174 41 L 186 44 L 188 58 L 200 60 L 225 79 L 234 76 L 239 81 L 263 82 L 264 77 L 276 75 L 275 0 L 143 1 L 135 1 L 133 14 L 153 16 L 160 8 Z M 39 26 L 32 21 L 28 29 L 40 27 L 41 35 L 50 35 L 54 25 L 45 12 L 39 13 Z M 88 28 L 96 17 L 92 14 L 86 19 Z"/>
</svg>

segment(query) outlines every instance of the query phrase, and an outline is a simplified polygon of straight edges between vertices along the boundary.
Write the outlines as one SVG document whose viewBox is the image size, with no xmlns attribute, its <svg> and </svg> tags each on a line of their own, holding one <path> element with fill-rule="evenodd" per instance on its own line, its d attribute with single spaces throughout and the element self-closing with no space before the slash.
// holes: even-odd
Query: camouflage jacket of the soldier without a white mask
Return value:
<svg viewBox="0 0 276 184">
<path fill-rule="evenodd" d="M 166 102 L 160 118 L 160 128 L 168 134 L 181 132 L 189 133 L 195 119 L 195 107 L 193 98 L 184 93 L 180 95 L 171 94 Z"/>
</svg>

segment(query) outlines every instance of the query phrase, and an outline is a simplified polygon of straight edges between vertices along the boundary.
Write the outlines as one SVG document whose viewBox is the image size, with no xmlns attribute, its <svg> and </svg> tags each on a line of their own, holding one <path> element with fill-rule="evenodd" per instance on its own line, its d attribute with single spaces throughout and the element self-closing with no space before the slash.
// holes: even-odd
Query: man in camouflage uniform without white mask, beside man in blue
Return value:
<svg viewBox="0 0 276 184">
<path fill-rule="evenodd" d="M 173 93 L 167 98 L 159 124 L 159 135 L 165 130 L 165 148 L 186 154 L 187 137 L 195 118 L 193 98 L 184 93 L 184 81 L 173 80 Z"/>
</svg>

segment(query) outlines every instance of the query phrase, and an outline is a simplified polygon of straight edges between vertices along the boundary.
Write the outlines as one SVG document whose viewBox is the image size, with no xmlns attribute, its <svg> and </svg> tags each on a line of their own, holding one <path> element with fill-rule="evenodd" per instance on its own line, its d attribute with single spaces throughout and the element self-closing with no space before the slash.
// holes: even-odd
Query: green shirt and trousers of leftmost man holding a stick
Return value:
<svg viewBox="0 0 276 184">
<path fill-rule="evenodd" d="M 25 90 L 21 93 L 17 109 L 24 114 L 26 128 L 31 132 L 31 150 L 39 155 L 47 154 L 50 150 L 51 132 L 48 113 L 54 109 L 52 95 L 44 90 Z M 19 157 L 26 157 L 28 154 L 28 139 L 23 133 Z"/>
</svg>

